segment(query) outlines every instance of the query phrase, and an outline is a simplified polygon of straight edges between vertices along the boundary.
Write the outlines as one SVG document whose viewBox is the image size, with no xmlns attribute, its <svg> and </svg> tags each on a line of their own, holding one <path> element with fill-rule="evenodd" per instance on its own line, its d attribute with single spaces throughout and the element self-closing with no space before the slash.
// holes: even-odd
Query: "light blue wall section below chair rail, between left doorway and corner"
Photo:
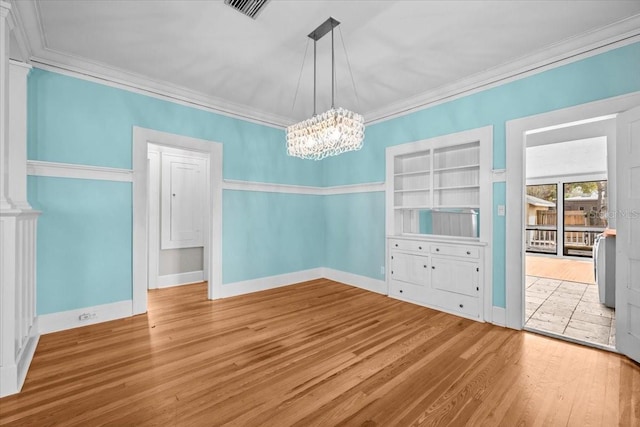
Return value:
<svg viewBox="0 0 640 427">
<path fill-rule="evenodd" d="M 225 190 L 222 282 L 324 266 L 323 196 Z"/>
</svg>

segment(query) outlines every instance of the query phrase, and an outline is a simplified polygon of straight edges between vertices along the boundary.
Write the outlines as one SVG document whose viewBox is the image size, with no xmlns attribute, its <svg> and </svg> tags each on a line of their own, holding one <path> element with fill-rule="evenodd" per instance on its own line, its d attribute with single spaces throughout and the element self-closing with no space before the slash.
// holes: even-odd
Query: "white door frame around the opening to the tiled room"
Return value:
<svg viewBox="0 0 640 427">
<path fill-rule="evenodd" d="M 594 101 L 506 123 L 506 230 L 505 297 L 506 326 L 522 329 L 524 323 L 524 224 L 525 151 L 527 133 L 532 130 L 577 125 L 589 118 L 614 115 L 640 104 L 640 91 Z M 611 156 L 614 157 L 614 156 Z M 609 159 L 611 162 L 612 159 Z M 609 167 L 609 170 L 615 170 Z M 611 200 L 610 200 L 611 203 Z M 612 204 L 612 206 L 614 206 Z"/>
</svg>

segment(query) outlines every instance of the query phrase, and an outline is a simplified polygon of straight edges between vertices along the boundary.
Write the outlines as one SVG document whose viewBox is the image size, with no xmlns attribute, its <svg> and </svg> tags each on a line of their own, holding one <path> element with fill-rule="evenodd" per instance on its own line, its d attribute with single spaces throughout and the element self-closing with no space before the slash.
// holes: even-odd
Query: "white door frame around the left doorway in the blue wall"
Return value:
<svg viewBox="0 0 640 427">
<path fill-rule="evenodd" d="M 209 224 L 205 236 L 208 253 L 208 297 L 220 295 L 222 287 L 222 144 L 133 127 L 133 314 L 147 311 L 148 286 L 148 144 L 164 145 L 209 155 L 209 206 L 205 220 Z"/>
</svg>

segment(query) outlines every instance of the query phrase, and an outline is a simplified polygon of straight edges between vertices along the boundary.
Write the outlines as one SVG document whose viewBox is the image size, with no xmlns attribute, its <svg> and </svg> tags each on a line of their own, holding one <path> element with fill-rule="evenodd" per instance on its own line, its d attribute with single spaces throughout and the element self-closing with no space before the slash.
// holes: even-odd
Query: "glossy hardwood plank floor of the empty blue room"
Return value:
<svg viewBox="0 0 640 427">
<path fill-rule="evenodd" d="M 328 280 L 41 337 L 20 426 L 640 425 L 640 366 Z"/>
</svg>

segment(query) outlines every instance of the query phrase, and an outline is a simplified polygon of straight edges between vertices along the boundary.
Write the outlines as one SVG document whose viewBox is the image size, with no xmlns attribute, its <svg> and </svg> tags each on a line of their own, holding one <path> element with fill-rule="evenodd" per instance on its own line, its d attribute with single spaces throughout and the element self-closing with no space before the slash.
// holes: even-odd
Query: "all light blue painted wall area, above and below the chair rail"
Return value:
<svg viewBox="0 0 640 427">
<path fill-rule="evenodd" d="M 313 162 L 286 156 L 283 130 L 35 69 L 29 77 L 28 157 L 131 168 L 132 127 L 141 126 L 222 142 L 225 179 L 312 186 L 382 182 L 388 146 L 493 125 L 493 165 L 503 168 L 508 120 L 638 90 L 640 43 L 368 126 L 361 151 Z M 504 307 L 505 225 L 495 212 L 505 203 L 504 184 L 494 184 L 493 193 L 493 300 Z M 31 178 L 29 200 L 44 212 L 39 314 L 131 298 L 130 184 Z M 223 203 L 224 283 L 319 266 L 383 279 L 381 192 L 323 197 L 225 191 Z M 105 226 L 109 235 L 94 230 Z"/>
</svg>

